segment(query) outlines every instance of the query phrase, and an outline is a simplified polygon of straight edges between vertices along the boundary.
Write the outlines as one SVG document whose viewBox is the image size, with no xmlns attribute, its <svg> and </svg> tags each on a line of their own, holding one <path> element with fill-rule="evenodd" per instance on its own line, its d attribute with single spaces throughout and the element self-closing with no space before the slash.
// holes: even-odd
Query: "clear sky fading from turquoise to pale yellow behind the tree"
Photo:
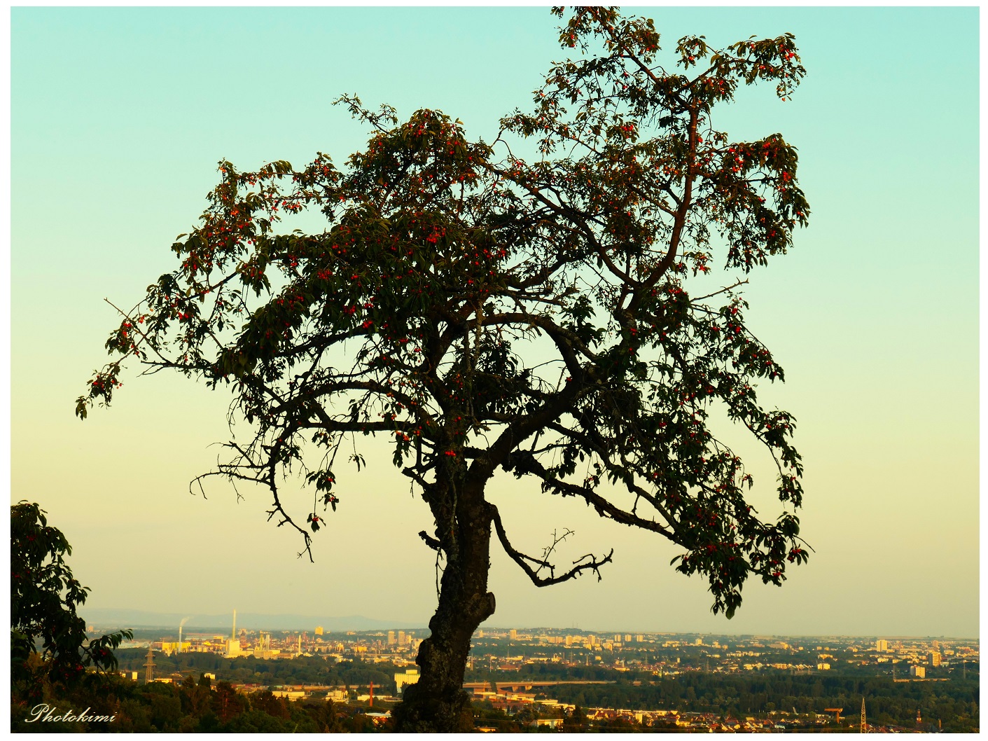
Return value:
<svg viewBox="0 0 988 741">
<path fill-rule="evenodd" d="M 796 417 L 815 552 L 781 589 L 750 581 L 728 621 L 669 566 L 676 546 L 496 478 L 516 546 L 569 528 L 574 557 L 615 556 L 601 582 L 536 589 L 495 544 L 486 624 L 977 635 L 978 9 L 629 12 L 667 50 L 791 32 L 808 71 L 790 101 L 745 88 L 713 124 L 799 151 L 810 226 L 745 295 L 786 371 L 760 395 Z M 435 554 L 416 534 L 431 518 L 383 447 L 341 476 L 309 563 L 263 492 L 190 494 L 227 439 L 222 391 L 131 369 L 112 408 L 80 422 L 74 400 L 119 324 L 104 298 L 130 306 L 176 267 L 219 159 L 342 164 L 368 136 L 331 105 L 343 93 L 401 117 L 440 109 L 489 141 L 572 53 L 556 24 L 530 7 L 12 9 L 11 501 L 39 502 L 68 537 L 88 606 L 428 621 Z M 762 512 L 779 511 L 770 461 L 739 448 Z"/>
</svg>

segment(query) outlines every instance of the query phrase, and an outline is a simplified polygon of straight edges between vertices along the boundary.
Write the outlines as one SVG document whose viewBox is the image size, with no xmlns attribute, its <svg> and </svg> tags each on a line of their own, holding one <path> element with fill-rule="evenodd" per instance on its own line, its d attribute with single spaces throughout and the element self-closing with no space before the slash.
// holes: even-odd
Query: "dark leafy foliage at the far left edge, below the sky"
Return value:
<svg viewBox="0 0 988 741">
<path fill-rule="evenodd" d="M 65 563 L 72 546 L 47 523 L 44 510 L 25 501 L 10 508 L 11 680 L 15 693 L 41 697 L 42 685 L 70 686 L 87 667 L 117 666 L 113 649 L 129 630 L 89 640 L 76 609 L 88 587 Z"/>
</svg>

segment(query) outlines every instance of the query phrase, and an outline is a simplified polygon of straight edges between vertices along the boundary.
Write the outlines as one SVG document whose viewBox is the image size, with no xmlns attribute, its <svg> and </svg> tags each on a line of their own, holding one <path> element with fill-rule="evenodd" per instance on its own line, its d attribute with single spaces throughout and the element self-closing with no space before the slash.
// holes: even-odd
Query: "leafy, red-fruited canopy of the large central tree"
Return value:
<svg viewBox="0 0 988 741">
<path fill-rule="evenodd" d="M 444 556 L 444 593 L 474 626 L 494 611 L 491 531 L 537 585 L 611 560 L 557 570 L 516 549 L 484 498 L 499 470 L 678 544 L 676 568 L 706 578 L 715 613 L 733 615 L 749 576 L 782 584 L 807 557 L 802 466 L 792 416 L 758 399 L 783 371 L 738 291 L 809 207 L 781 133 L 733 140 L 711 115 L 742 83 L 791 95 L 794 40 L 686 37 L 666 66 L 650 20 L 585 7 L 560 41 L 579 58 L 489 141 L 439 111 L 400 122 L 344 96 L 371 138 L 342 169 L 322 153 L 302 168 L 220 162 L 199 225 L 172 245 L 179 267 L 121 311 L 107 343 L 120 358 L 77 414 L 111 402 L 128 358 L 228 389 L 252 432 L 205 475 L 267 487 L 303 552 L 341 504 L 340 453 L 360 469 L 362 436 L 386 436 L 435 518 L 420 535 Z M 526 140 L 535 157 L 518 153 Z M 325 227 L 289 229 L 303 212 Z M 712 285 L 715 260 L 739 277 Z M 746 501 L 715 407 L 774 456 L 777 519 Z M 286 505 L 288 472 L 313 490 L 306 523 Z"/>
</svg>

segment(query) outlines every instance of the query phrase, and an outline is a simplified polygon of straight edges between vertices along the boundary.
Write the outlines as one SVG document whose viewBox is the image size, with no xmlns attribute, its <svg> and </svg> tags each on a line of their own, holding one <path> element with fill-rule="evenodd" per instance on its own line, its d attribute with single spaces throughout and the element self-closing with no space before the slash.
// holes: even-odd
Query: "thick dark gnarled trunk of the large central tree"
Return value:
<svg viewBox="0 0 988 741">
<path fill-rule="evenodd" d="M 459 489 L 458 497 L 454 488 Z M 419 681 L 405 686 L 402 702 L 394 709 L 394 729 L 472 732 L 473 710 L 463 691 L 463 673 L 473 631 L 494 614 L 494 595 L 487 591 L 491 515 L 482 488 L 434 490 L 427 501 L 436 515 L 446 568 L 439 606 L 429 621 L 432 635 L 422 641 L 416 659 Z"/>
</svg>

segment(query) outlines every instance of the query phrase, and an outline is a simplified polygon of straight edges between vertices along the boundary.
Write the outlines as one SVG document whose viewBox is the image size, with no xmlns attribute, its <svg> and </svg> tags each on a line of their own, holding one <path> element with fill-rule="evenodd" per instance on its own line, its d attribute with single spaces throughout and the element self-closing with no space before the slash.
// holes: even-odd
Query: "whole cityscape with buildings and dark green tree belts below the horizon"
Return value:
<svg viewBox="0 0 988 741">
<path fill-rule="evenodd" d="M 144 684 L 173 691 L 205 677 L 213 687 L 227 683 L 259 700 L 267 689 L 295 702 L 331 700 L 344 713 L 355 705 L 370 712 L 372 705 L 383 722 L 421 679 L 413 662 L 424 632 L 241 630 L 228 650 L 233 641 L 226 635 L 197 633 L 179 643 L 174 635 L 144 630 L 122 648 L 121 668 L 138 686 L 136 670 L 153 662 L 155 672 L 147 670 Z M 513 721 L 517 728 L 567 723 L 572 729 L 581 715 L 623 718 L 625 730 L 823 730 L 840 725 L 841 713 L 846 727 L 869 732 L 963 732 L 979 724 L 977 703 L 968 700 L 979 678 L 976 639 L 574 635 L 517 628 L 478 630 L 473 638 L 462 689 L 480 730 L 504 730 Z M 148 658 L 152 654 L 157 661 Z M 859 697 L 862 715 L 857 707 L 847 712 L 847 700 Z"/>
</svg>

